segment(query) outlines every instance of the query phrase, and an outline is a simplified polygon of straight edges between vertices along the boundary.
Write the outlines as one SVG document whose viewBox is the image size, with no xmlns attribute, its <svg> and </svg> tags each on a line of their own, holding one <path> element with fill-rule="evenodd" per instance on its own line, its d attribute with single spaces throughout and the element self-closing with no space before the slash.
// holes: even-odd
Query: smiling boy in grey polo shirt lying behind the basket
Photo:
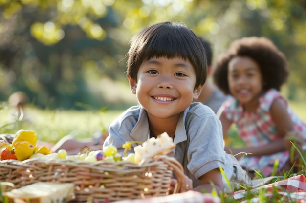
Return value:
<svg viewBox="0 0 306 203">
<path fill-rule="evenodd" d="M 193 189 L 211 192 L 213 183 L 219 192 L 224 187 L 219 167 L 240 184 L 248 176 L 224 152 L 216 114 L 200 102 L 192 103 L 206 80 L 203 53 L 199 38 L 182 23 L 153 24 L 132 37 L 127 76 L 140 105 L 110 124 L 103 147 L 113 145 L 122 152 L 127 141 L 145 142 L 167 132 L 176 144 L 172 153 L 193 181 Z"/>
</svg>

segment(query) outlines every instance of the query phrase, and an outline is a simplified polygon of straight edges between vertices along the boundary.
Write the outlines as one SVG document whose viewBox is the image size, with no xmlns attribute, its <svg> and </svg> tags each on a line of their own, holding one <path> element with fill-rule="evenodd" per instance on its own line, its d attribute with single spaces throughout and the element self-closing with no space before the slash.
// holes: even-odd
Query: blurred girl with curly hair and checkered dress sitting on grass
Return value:
<svg viewBox="0 0 306 203">
<path fill-rule="evenodd" d="M 240 165 L 249 170 L 250 177 L 254 176 L 254 170 L 271 175 L 275 160 L 279 161 L 280 172 L 285 166 L 288 171 L 299 157 L 295 150 L 295 157 L 289 159 L 294 149 L 290 141 L 302 150 L 306 140 L 305 123 L 279 92 L 289 74 L 286 64 L 284 54 L 265 37 L 238 39 L 217 61 L 214 82 L 225 94 L 233 96 L 217 113 L 223 137 L 236 124 L 247 145 L 226 151 L 247 154 L 236 157 L 241 158 Z"/>
</svg>

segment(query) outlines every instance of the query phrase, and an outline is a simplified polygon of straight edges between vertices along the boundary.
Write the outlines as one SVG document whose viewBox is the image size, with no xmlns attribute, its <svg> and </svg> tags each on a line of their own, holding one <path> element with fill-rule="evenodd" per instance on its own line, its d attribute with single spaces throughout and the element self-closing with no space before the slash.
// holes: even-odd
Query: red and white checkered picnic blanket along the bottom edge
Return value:
<svg viewBox="0 0 306 203">
<path fill-rule="evenodd" d="M 304 175 L 293 176 L 281 181 L 274 181 L 276 178 L 284 178 L 282 176 L 273 176 L 264 179 L 253 180 L 257 186 L 251 190 L 238 190 L 228 195 L 233 197 L 238 203 L 258 203 L 261 201 L 261 190 L 264 191 L 265 200 L 271 200 L 278 203 L 306 203 L 306 178 Z M 270 183 L 273 182 L 273 183 Z M 277 191 L 277 196 L 275 196 Z M 251 198 L 249 198 L 251 196 Z M 123 200 L 113 203 L 221 203 L 219 197 L 212 194 L 202 194 L 189 190 L 187 192 L 163 196 L 152 197 L 147 199 Z"/>
</svg>

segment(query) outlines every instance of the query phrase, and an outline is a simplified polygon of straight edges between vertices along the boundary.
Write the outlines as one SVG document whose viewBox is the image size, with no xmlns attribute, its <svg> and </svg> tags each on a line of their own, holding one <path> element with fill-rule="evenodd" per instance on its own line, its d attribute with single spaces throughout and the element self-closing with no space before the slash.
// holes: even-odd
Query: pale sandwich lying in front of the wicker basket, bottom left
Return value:
<svg viewBox="0 0 306 203">
<path fill-rule="evenodd" d="M 4 192 L 10 203 L 66 203 L 73 199 L 73 183 L 38 182 Z"/>
</svg>

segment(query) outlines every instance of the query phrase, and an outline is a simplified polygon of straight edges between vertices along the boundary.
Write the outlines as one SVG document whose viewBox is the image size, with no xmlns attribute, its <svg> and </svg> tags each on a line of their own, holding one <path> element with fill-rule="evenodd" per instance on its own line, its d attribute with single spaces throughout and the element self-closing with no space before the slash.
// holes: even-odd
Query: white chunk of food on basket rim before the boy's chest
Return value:
<svg viewBox="0 0 306 203">
<path fill-rule="evenodd" d="M 152 137 L 142 145 L 134 147 L 136 161 L 140 162 L 143 159 L 154 157 L 158 154 L 167 154 L 170 150 L 175 148 L 173 139 L 169 137 L 167 132 Z"/>
</svg>

